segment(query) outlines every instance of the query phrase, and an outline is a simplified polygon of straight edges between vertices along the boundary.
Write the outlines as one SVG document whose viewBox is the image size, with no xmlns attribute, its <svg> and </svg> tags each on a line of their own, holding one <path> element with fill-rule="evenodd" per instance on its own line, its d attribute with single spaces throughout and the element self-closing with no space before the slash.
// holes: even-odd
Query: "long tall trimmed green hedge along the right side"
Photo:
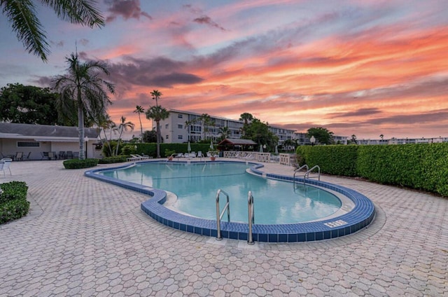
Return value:
<svg viewBox="0 0 448 297">
<path fill-rule="evenodd" d="M 299 146 L 302 163 L 325 174 L 363 177 L 448 196 L 448 143 Z"/>
</svg>

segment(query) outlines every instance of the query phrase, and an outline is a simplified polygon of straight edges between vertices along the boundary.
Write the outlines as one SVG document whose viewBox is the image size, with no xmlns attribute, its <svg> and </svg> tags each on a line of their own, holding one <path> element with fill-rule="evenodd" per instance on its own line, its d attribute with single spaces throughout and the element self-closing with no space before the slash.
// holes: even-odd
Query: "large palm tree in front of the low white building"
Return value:
<svg viewBox="0 0 448 297">
<path fill-rule="evenodd" d="M 56 101 L 59 114 L 78 111 L 79 159 L 83 160 L 84 113 L 90 115 L 106 113 L 107 104 L 111 104 L 111 100 L 103 85 L 112 94 L 115 89 L 111 83 L 100 77 L 100 74 L 109 75 L 106 63 L 90 61 L 81 64 L 78 53 L 66 57 L 66 62 L 69 64 L 66 76 L 56 76 L 52 80 L 52 86 L 59 92 Z"/>
</svg>

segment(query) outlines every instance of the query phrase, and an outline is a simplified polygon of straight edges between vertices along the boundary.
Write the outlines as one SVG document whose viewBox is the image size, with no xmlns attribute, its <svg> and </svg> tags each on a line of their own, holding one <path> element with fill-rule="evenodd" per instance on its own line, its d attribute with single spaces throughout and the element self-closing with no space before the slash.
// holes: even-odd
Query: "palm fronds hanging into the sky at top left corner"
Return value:
<svg viewBox="0 0 448 297">
<path fill-rule="evenodd" d="M 22 41 L 28 53 L 33 53 L 44 62 L 47 61 L 48 41 L 41 22 L 36 15 L 36 1 L 0 0 L 3 15 L 8 18 L 13 32 Z M 73 24 L 87 25 L 90 28 L 104 26 L 101 13 L 94 6 L 95 1 L 78 0 L 42 0 L 45 6 L 52 8 L 57 17 Z"/>
</svg>

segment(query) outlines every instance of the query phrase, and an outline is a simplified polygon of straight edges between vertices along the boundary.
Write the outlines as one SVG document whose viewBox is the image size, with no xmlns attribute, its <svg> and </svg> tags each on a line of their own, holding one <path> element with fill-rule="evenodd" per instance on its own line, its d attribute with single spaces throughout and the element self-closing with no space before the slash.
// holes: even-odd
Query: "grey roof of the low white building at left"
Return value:
<svg viewBox="0 0 448 297">
<path fill-rule="evenodd" d="M 95 128 L 85 128 L 85 137 L 97 139 L 98 131 Z M 78 127 L 32 125 L 16 123 L 0 123 L 0 138 L 34 138 L 45 141 L 57 139 L 79 138 Z"/>
</svg>

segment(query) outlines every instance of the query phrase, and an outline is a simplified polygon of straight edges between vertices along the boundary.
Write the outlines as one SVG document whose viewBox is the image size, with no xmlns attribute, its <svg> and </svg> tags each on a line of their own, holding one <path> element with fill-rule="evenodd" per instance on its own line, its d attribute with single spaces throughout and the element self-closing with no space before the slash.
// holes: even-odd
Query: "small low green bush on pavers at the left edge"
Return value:
<svg viewBox="0 0 448 297">
<path fill-rule="evenodd" d="M 0 184 L 0 224 L 26 216 L 29 211 L 27 201 L 28 186 L 23 181 Z"/>
</svg>

